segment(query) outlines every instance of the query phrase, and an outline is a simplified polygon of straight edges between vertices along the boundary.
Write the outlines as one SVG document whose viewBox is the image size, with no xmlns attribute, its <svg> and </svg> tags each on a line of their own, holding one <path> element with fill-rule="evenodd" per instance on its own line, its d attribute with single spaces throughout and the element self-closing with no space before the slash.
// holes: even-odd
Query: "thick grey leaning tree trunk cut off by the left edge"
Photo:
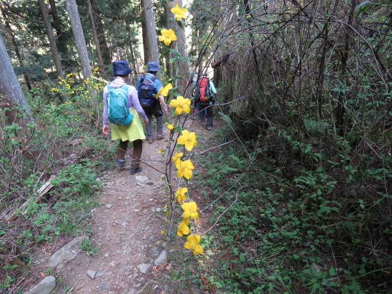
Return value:
<svg viewBox="0 0 392 294">
<path fill-rule="evenodd" d="M 7 49 L 0 35 L 0 94 L 3 98 L 10 100 L 14 104 L 24 106 L 30 113 L 25 96 L 23 95 L 21 85 L 12 68 Z"/>
</svg>

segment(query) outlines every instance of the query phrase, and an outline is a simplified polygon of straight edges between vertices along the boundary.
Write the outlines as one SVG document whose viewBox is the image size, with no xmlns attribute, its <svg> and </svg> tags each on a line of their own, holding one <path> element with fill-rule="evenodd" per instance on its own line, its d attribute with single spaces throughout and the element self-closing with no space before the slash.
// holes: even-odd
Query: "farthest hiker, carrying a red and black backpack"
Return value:
<svg viewBox="0 0 392 294">
<path fill-rule="evenodd" d="M 217 90 L 215 89 L 214 83 L 208 78 L 208 73 L 203 74 L 197 79 L 196 83 L 196 101 L 200 103 L 200 110 L 198 110 L 200 116 L 200 122 L 203 123 L 205 119 L 204 110 L 207 111 L 207 122 L 206 129 L 211 131 L 214 123 L 214 109 L 213 105 L 215 102 L 215 95 Z"/>
</svg>

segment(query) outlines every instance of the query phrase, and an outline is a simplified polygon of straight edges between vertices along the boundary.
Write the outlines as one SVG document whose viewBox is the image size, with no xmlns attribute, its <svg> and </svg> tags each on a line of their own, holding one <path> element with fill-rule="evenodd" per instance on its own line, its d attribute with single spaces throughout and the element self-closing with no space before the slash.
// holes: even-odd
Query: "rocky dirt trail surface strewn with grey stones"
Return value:
<svg viewBox="0 0 392 294">
<path fill-rule="evenodd" d="M 188 122 L 185 127 L 196 132 L 197 140 L 209 140 L 211 132 L 204 125 L 198 120 Z M 163 140 L 144 142 L 142 172 L 131 175 L 126 165 L 105 173 L 105 187 L 97 198 L 100 205 L 89 219 L 91 235 L 63 240 L 63 247 L 48 249 L 40 261 L 42 278 L 37 278 L 37 283 L 41 283 L 30 294 L 48 291 L 42 284 L 47 289 L 53 287 L 48 293 L 56 294 L 178 293 L 171 279 L 162 278 L 171 269 L 171 251 L 165 234 L 170 220 L 165 207 L 165 157 L 158 150 L 165 149 L 168 140 L 169 131 Z M 80 249 L 78 244 L 85 238 L 97 247 L 95 256 Z"/>
</svg>

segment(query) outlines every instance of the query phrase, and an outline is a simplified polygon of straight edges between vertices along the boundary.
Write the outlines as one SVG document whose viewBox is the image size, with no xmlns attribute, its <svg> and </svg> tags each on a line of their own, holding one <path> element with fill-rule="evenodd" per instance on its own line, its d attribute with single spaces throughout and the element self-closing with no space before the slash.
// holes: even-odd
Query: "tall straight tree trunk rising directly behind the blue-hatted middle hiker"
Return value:
<svg viewBox="0 0 392 294">
<path fill-rule="evenodd" d="M 154 12 L 152 10 L 152 0 L 141 0 L 142 22 L 143 30 L 143 49 L 144 61 L 147 64 L 150 61 L 155 61 L 159 65 L 158 43 L 156 40 Z M 161 74 L 156 74 L 158 79 L 161 79 Z"/>
</svg>

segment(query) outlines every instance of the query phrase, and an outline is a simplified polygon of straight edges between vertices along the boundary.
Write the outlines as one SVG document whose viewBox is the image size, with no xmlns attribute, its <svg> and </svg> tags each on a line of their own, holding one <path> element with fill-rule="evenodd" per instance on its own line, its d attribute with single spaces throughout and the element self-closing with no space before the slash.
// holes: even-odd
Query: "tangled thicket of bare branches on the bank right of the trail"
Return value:
<svg viewBox="0 0 392 294">
<path fill-rule="evenodd" d="M 330 238 L 319 250 L 334 256 L 335 268 L 350 265 L 351 282 L 339 282 L 347 287 L 357 279 L 363 289 L 390 283 L 391 6 L 194 1 L 192 10 L 197 25 L 213 30 L 206 42 L 210 60 L 222 59 L 215 69 L 222 102 L 245 97 L 223 111 L 242 140 L 262 150 L 258 161 L 272 160 L 290 183 L 297 213 L 315 215 L 307 220 L 315 234 Z"/>
</svg>

